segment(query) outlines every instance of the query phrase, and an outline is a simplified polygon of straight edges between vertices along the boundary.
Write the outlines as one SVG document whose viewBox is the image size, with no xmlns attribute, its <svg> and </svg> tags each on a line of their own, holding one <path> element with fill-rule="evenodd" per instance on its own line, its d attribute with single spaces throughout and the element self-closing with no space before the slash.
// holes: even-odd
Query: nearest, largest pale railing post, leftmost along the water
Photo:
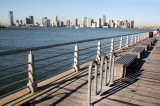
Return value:
<svg viewBox="0 0 160 106">
<path fill-rule="evenodd" d="M 28 55 L 28 91 L 34 93 L 37 89 L 37 83 L 35 81 L 35 71 L 34 71 L 34 56 L 32 51 Z"/>
</svg>

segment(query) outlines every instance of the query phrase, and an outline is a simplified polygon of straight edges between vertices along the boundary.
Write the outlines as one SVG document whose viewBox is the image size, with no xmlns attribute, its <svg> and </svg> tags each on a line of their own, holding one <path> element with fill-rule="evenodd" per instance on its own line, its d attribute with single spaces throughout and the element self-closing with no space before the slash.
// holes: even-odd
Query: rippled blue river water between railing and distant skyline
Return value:
<svg viewBox="0 0 160 106">
<path fill-rule="evenodd" d="M 93 39 L 93 38 L 138 33 L 138 32 L 144 32 L 144 31 L 153 31 L 153 30 L 103 29 L 103 28 L 94 28 L 94 29 L 92 28 L 79 28 L 79 29 L 40 28 L 36 30 L 0 30 L 0 52 L 8 51 L 8 50 L 22 49 L 22 48 L 29 48 L 29 47 L 51 45 L 51 44 L 57 44 L 57 43 Z M 103 40 L 102 44 L 105 44 L 107 42 L 110 43 L 109 40 Z M 44 61 L 36 62 L 35 63 L 36 80 L 37 81 L 41 80 L 50 75 L 52 76 L 58 72 L 62 72 L 64 70 L 71 68 L 73 65 L 73 58 L 70 58 L 70 57 L 73 57 L 74 46 L 75 45 L 69 45 L 65 47 L 49 48 L 49 49 L 34 51 L 33 54 L 34 54 L 35 60 L 50 57 L 50 56 L 53 57 L 59 54 L 67 53 L 67 52 L 72 52 L 70 54 L 60 56 L 57 58 L 51 58 L 51 59 L 47 59 Z M 79 53 L 80 54 L 79 59 L 81 60 L 80 64 L 95 58 L 96 50 L 97 50 L 97 41 L 79 44 L 80 49 L 90 47 L 90 46 L 95 46 L 95 47 L 85 50 L 85 51 L 80 51 Z M 106 49 L 110 48 L 110 44 L 103 45 L 103 48 L 105 50 L 104 52 L 105 54 Z M 13 65 L 21 64 L 21 63 L 26 63 L 28 61 L 27 60 L 28 54 L 29 52 L 8 55 L 8 56 L 0 56 L 0 61 L 1 61 L 0 70 L 5 67 L 9 67 L 9 66 L 13 66 Z M 85 54 L 85 55 L 82 55 L 82 54 Z M 86 57 L 87 59 L 84 59 Z M 66 59 L 66 58 L 70 58 L 70 59 L 60 62 L 61 60 Z M 47 65 L 47 66 L 44 67 L 43 65 Z M 27 70 L 27 65 L 0 71 L 0 77 L 2 78 L 4 76 L 12 75 L 12 74 L 22 72 L 25 70 Z M 45 74 L 38 75 L 40 73 L 45 73 Z M 2 87 L 7 84 L 10 84 L 11 82 L 18 81 L 24 78 L 27 78 L 27 73 L 17 75 L 16 77 L 7 78 L 5 80 L 0 80 L 0 86 Z M 14 89 L 17 89 L 18 87 L 24 86 L 26 85 L 26 83 L 27 81 L 24 81 L 23 83 L 20 83 L 19 85 L 16 84 L 15 87 L 13 86 L 7 87 L 0 92 L 0 95 L 10 92 Z"/>
</svg>

